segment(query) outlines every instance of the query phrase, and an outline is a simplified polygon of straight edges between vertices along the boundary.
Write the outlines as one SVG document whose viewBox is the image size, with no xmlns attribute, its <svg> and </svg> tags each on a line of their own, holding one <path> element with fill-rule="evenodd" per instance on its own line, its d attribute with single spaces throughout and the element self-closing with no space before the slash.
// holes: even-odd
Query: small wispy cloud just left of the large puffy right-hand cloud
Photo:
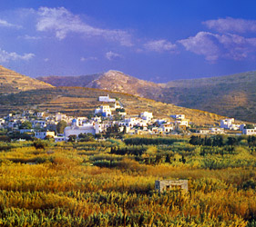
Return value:
<svg viewBox="0 0 256 227">
<path fill-rule="evenodd" d="M 176 44 L 171 44 L 169 41 L 161 39 L 161 40 L 149 41 L 147 44 L 144 44 L 144 48 L 148 51 L 155 51 L 155 52 L 164 52 L 164 51 L 173 52 L 176 49 Z"/>
</svg>

